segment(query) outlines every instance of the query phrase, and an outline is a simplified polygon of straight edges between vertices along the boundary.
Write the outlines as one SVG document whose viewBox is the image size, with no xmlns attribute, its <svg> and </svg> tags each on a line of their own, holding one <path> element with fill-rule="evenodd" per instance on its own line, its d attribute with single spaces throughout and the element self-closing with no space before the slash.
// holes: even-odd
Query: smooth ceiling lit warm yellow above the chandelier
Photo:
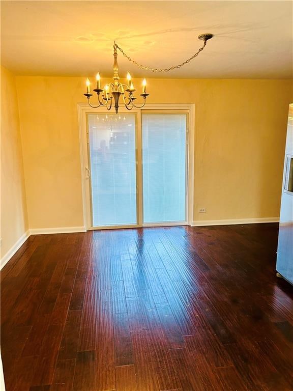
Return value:
<svg viewBox="0 0 293 391">
<path fill-rule="evenodd" d="M 134 60 L 166 68 L 207 47 L 181 69 L 120 75 L 168 78 L 291 78 L 292 2 L 2 1 L 2 64 L 18 75 L 112 74 L 116 42 Z"/>
</svg>

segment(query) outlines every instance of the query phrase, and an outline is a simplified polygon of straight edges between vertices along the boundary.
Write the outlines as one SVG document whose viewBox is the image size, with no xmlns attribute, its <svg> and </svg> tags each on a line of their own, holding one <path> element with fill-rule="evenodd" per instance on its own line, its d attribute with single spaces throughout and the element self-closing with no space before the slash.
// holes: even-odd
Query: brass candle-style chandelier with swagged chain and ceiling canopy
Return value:
<svg viewBox="0 0 293 391">
<path fill-rule="evenodd" d="M 141 108 L 145 105 L 145 101 L 147 99 L 147 96 L 149 96 L 149 94 L 147 94 L 147 92 L 146 92 L 147 80 L 145 78 L 142 80 L 142 93 L 139 95 L 142 97 L 143 100 L 142 100 L 142 103 L 137 104 L 135 102 L 136 97 L 134 96 L 134 93 L 136 90 L 133 86 L 133 82 L 131 81 L 130 73 L 127 72 L 127 76 L 126 76 L 127 84 L 123 84 L 119 81 L 120 77 L 119 77 L 119 73 L 118 73 L 117 49 L 119 49 L 122 52 L 122 54 L 124 55 L 125 58 L 127 58 L 130 62 L 137 65 L 141 69 L 149 70 L 152 72 L 169 72 L 173 69 L 183 67 L 185 64 L 188 64 L 191 60 L 193 60 L 195 57 L 197 57 L 197 55 L 206 46 L 207 41 L 209 39 L 211 39 L 212 37 L 213 37 L 213 34 L 200 34 L 198 36 L 198 39 L 203 41 L 203 45 L 198 49 L 198 51 L 195 54 L 193 54 L 192 57 L 190 57 L 188 60 L 184 61 L 183 63 L 181 63 L 179 65 L 174 65 L 174 66 L 172 66 L 170 68 L 166 68 L 166 69 L 150 68 L 150 67 L 138 64 L 136 61 L 132 60 L 127 54 L 125 54 L 123 49 L 121 47 L 119 47 L 118 44 L 116 44 L 116 42 L 114 41 L 114 46 L 113 46 L 113 48 L 114 48 L 113 82 L 107 83 L 104 86 L 104 88 L 101 88 L 100 73 L 99 72 L 97 73 L 97 75 L 96 75 L 97 88 L 95 88 L 93 90 L 94 92 L 97 93 L 97 96 L 98 96 L 99 103 L 97 106 L 93 106 L 90 103 L 90 98 L 91 98 L 91 96 L 93 96 L 93 94 L 91 94 L 91 82 L 90 82 L 89 78 L 86 79 L 86 94 L 83 94 L 83 95 L 86 96 L 87 102 L 93 108 L 104 106 L 104 107 L 106 107 L 107 110 L 110 110 L 112 107 L 112 103 L 114 102 L 114 108 L 115 108 L 116 114 L 118 113 L 118 110 L 119 110 L 120 98 L 122 98 L 123 104 L 128 110 L 131 110 L 133 107 Z"/>
</svg>

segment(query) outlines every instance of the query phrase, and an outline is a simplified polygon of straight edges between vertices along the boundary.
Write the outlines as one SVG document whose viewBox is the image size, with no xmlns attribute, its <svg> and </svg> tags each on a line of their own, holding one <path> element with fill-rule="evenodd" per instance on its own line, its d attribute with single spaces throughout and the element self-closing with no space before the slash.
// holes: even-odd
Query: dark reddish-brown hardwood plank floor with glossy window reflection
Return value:
<svg viewBox="0 0 293 391">
<path fill-rule="evenodd" d="M 293 390 L 277 224 L 31 236 L 1 278 L 7 391 Z"/>
</svg>

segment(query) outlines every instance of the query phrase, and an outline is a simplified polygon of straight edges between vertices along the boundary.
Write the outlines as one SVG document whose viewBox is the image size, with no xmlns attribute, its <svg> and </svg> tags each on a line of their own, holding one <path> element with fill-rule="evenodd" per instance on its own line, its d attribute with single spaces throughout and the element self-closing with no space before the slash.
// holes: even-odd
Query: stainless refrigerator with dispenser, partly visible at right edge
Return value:
<svg viewBox="0 0 293 391">
<path fill-rule="evenodd" d="M 278 277 L 293 284 L 293 103 L 289 104 L 276 269 Z"/>
</svg>

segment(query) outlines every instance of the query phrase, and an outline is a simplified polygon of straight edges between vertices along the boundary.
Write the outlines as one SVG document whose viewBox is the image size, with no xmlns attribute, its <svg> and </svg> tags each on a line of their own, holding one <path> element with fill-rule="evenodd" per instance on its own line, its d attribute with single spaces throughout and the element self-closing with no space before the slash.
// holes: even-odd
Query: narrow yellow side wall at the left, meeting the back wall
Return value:
<svg viewBox="0 0 293 391">
<path fill-rule="evenodd" d="M 1 257 L 27 229 L 15 77 L 1 68 Z"/>
</svg>

